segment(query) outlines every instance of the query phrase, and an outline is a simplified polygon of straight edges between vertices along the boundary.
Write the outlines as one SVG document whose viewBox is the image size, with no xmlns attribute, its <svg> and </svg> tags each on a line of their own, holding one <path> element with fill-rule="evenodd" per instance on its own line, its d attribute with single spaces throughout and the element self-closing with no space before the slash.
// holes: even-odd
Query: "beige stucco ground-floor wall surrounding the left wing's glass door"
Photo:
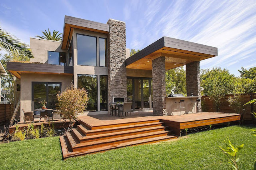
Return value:
<svg viewBox="0 0 256 170">
<path fill-rule="evenodd" d="M 32 111 L 32 82 L 61 82 L 61 91 L 64 91 L 73 80 L 72 75 L 21 73 L 20 79 L 20 108 L 25 112 Z M 24 113 L 20 112 L 21 120 Z"/>
</svg>

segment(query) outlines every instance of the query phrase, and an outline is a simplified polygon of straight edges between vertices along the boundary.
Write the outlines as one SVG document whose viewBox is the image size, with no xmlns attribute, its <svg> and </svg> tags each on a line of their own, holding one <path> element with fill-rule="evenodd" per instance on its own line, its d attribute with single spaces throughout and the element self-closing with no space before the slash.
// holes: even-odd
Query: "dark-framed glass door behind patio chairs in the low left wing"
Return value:
<svg viewBox="0 0 256 170">
<path fill-rule="evenodd" d="M 47 108 L 56 108 L 57 94 L 61 91 L 61 83 L 32 82 L 32 101 L 34 109 L 41 108 L 38 102 L 45 100 Z"/>
</svg>

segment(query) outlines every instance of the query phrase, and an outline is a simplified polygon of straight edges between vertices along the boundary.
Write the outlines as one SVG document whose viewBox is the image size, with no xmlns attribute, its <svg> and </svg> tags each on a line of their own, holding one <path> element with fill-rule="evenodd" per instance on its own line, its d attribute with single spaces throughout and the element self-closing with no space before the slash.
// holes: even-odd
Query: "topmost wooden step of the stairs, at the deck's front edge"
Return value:
<svg viewBox="0 0 256 170">
<path fill-rule="evenodd" d="M 84 120 L 79 120 L 80 124 L 83 124 L 86 126 L 89 130 L 95 130 L 95 129 L 104 129 L 104 128 L 114 128 L 114 127 L 120 127 L 120 126 L 129 126 L 129 125 L 135 125 L 135 124 L 146 124 L 146 123 L 153 123 L 153 122 L 160 122 L 160 119 L 153 119 L 153 120 L 128 120 L 127 122 L 113 122 L 112 124 L 107 125 L 95 125 L 91 126 Z"/>
</svg>

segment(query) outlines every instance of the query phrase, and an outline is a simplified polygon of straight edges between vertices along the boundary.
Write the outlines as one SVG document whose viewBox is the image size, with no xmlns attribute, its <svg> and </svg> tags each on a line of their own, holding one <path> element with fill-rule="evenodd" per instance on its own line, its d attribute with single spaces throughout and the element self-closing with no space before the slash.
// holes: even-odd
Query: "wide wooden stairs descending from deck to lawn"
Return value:
<svg viewBox="0 0 256 170">
<path fill-rule="evenodd" d="M 63 158 L 178 138 L 160 120 L 90 127 L 83 121 L 60 136 Z"/>
</svg>

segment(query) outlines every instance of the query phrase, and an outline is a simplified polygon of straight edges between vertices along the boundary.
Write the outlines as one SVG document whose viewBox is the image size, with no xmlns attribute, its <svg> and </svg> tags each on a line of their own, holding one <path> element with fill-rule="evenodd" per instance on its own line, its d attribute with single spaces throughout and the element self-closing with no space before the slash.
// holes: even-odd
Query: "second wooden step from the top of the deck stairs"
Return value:
<svg viewBox="0 0 256 170">
<path fill-rule="evenodd" d="M 162 122 L 152 122 L 152 123 L 134 124 L 134 125 L 128 125 L 128 126 L 119 126 L 119 127 L 96 129 L 96 130 L 88 130 L 88 128 L 84 125 L 78 125 L 77 127 L 86 136 L 92 136 L 97 134 L 107 134 L 107 133 L 120 132 L 125 130 L 134 130 L 134 129 L 140 129 L 140 128 L 162 126 L 162 124 L 163 124 Z"/>
</svg>

